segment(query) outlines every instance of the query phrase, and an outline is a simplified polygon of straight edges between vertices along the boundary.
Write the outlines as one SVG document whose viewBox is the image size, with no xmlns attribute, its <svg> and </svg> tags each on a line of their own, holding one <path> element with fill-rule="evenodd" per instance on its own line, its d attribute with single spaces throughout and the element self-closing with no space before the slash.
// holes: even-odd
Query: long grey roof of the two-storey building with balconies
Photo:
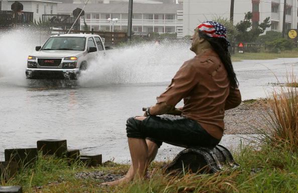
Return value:
<svg viewBox="0 0 298 193">
<path fill-rule="evenodd" d="M 75 8 L 83 8 L 84 4 L 61 3 L 58 4 L 57 12 L 72 12 Z M 183 4 L 155 4 L 135 3 L 133 13 L 176 13 L 183 10 Z M 87 4 L 85 12 L 128 13 L 128 3 L 97 3 Z"/>
</svg>

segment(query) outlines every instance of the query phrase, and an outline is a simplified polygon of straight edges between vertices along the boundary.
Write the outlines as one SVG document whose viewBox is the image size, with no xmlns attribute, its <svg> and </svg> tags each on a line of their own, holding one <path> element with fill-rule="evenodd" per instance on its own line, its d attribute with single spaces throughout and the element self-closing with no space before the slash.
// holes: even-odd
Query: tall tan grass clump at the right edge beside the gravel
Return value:
<svg viewBox="0 0 298 193">
<path fill-rule="evenodd" d="M 297 79 L 290 75 L 286 85 L 296 85 Z M 271 146 L 281 146 L 297 151 L 298 147 L 298 88 L 279 86 L 269 99 L 266 124 L 260 140 Z"/>
</svg>

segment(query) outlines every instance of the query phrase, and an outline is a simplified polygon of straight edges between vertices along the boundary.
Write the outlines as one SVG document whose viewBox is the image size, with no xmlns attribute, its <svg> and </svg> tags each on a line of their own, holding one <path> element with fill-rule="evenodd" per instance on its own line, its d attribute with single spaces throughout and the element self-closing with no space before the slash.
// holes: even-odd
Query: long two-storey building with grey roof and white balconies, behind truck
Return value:
<svg viewBox="0 0 298 193">
<path fill-rule="evenodd" d="M 75 8 L 83 8 L 84 4 L 62 3 L 58 5 L 58 14 L 72 15 Z M 132 15 L 132 30 L 135 32 L 174 33 L 182 37 L 183 13 L 182 4 L 174 3 L 134 3 Z M 85 22 L 88 29 L 94 30 L 127 30 L 128 3 L 96 3 L 87 4 Z M 117 22 L 108 21 L 108 18 L 118 18 Z M 84 19 L 80 22 L 84 28 Z"/>
</svg>

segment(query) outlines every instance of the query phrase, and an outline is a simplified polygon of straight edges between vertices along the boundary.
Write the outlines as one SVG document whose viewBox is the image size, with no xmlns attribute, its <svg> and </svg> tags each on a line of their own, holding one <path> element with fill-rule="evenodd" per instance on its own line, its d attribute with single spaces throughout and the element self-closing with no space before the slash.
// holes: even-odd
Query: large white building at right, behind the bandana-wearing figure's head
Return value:
<svg viewBox="0 0 298 193">
<path fill-rule="evenodd" d="M 285 27 L 297 28 L 297 0 L 286 0 Z M 217 17 L 230 18 L 230 0 L 185 0 L 183 2 L 183 35 L 191 35 L 202 21 Z M 253 12 L 253 25 L 270 17 L 271 28 L 282 31 L 283 0 L 235 0 L 234 24 L 244 19 L 246 12 Z"/>
</svg>

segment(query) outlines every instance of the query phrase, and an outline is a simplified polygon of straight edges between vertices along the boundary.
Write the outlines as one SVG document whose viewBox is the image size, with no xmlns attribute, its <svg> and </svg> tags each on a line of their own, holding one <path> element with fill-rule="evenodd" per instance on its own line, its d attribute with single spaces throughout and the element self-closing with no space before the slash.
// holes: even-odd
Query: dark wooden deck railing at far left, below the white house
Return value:
<svg viewBox="0 0 298 193">
<path fill-rule="evenodd" d="M 0 26 L 9 26 L 12 24 L 29 24 L 33 22 L 33 12 L 23 11 L 15 13 L 12 10 L 0 10 Z"/>
</svg>

